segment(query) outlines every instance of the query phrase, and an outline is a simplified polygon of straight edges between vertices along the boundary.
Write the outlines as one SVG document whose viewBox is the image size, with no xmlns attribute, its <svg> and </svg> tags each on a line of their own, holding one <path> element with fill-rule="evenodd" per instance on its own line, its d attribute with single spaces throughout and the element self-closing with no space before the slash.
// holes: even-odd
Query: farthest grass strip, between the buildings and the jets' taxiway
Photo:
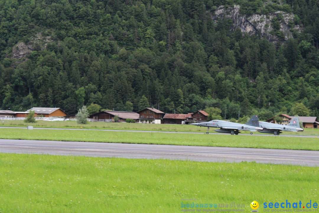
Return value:
<svg viewBox="0 0 319 213">
<path fill-rule="evenodd" d="M 143 131 L 169 131 L 169 132 L 206 132 L 206 128 L 192 125 L 178 124 L 138 124 L 138 123 L 105 123 L 105 122 L 88 122 L 88 124 L 80 125 L 76 121 L 42 121 L 27 124 L 22 120 L 0 120 L 0 126 L 17 126 L 17 127 L 47 127 L 47 128 L 77 128 L 83 129 L 114 129 L 114 130 L 143 130 Z M 211 128 L 210 132 L 214 132 Z M 249 131 L 242 131 L 241 134 L 249 134 Z M 263 134 L 263 133 L 258 133 Z M 305 129 L 304 132 L 283 132 L 285 135 L 317 135 L 319 129 Z"/>
</svg>

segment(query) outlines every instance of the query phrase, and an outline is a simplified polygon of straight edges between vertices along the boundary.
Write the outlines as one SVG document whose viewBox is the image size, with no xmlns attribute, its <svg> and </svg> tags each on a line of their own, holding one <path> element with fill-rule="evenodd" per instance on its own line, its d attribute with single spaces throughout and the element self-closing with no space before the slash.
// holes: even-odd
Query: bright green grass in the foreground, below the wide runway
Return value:
<svg viewBox="0 0 319 213">
<path fill-rule="evenodd" d="M 0 168 L 0 212 L 181 212 L 192 198 L 245 211 L 256 200 L 260 212 L 263 202 L 318 203 L 318 167 L 1 154 Z"/>
</svg>

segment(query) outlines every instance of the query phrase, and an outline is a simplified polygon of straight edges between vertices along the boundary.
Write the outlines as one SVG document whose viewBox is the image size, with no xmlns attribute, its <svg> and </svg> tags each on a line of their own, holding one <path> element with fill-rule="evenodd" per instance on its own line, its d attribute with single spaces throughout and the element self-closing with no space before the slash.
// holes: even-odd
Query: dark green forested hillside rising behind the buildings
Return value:
<svg viewBox="0 0 319 213">
<path fill-rule="evenodd" d="M 271 42 L 245 34 L 220 6 L 275 14 Z M 0 0 L 0 108 L 82 105 L 166 113 L 207 107 L 226 118 L 319 116 L 318 0 Z M 293 38 L 281 32 L 283 13 Z M 252 23 L 253 24 L 253 23 Z M 269 24 L 267 24 L 269 25 Z M 294 31 L 293 26 L 300 26 Z"/>
</svg>

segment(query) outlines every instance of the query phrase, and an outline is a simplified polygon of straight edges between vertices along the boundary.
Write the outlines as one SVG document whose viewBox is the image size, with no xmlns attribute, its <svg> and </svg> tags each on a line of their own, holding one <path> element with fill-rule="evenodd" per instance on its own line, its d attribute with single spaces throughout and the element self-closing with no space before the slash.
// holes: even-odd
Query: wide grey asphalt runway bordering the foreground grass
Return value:
<svg viewBox="0 0 319 213">
<path fill-rule="evenodd" d="M 319 166 L 319 151 L 0 139 L 0 152 Z"/>
</svg>

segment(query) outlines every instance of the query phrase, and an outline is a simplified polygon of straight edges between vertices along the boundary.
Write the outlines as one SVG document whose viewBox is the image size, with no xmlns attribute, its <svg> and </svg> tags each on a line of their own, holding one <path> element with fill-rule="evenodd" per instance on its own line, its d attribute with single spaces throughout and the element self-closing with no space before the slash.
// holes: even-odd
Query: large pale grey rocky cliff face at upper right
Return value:
<svg viewBox="0 0 319 213">
<path fill-rule="evenodd" d="M 293 23 L 293 14 L 276 11 L 267 15 L 254 14 L 246 17 L 240 14 L 239 10 L 239 5 L 228 8 L 222 5 L 217 8 L 211 19 L 232 19 L 234 24 L 231 30 L 240 28 L 243 33 L 249 35 L 260 33 L 271 42 L 286 41 L 293 37 L 293 31 L 301 32 L 301 27 Z"/>
</svg>

